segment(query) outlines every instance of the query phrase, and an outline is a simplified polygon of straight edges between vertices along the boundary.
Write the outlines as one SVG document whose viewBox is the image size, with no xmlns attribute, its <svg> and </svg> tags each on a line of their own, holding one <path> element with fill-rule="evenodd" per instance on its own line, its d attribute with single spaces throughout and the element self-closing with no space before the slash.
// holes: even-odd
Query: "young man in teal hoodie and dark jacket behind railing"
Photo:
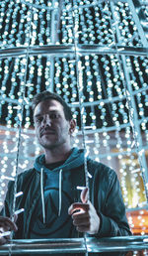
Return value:
<svg viewBox="0 0 148 256">
<path fill-rule="evenodd" d="M 15 238 L 74 238 L 83 232 L 96 237 L 130 235 L 118 180 L 109 167 L 87 159 L 90 200 L 85 187 L 84 152 L 72 148 L 75 120 L 63 99 L 49 91 L 33 100 L 37 139 L 44 154 L 33 169 L 18 177 L 16 210 L 25 208 L 16 223 L 10 220 L 14 183 L 10 182 L 0 217 L 1 232 Z M 81 200 L 80 200 L 81 198 Z M 1 238 L 1 244 L 7 238 Z"/>
</svg>

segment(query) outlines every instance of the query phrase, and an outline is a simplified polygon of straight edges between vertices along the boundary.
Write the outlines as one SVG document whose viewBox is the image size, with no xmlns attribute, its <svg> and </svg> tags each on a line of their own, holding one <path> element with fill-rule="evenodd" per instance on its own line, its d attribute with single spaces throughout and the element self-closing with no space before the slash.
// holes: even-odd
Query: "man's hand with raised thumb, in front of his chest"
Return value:
<svg viewBox="0 0 148 256">
<path fill-rule="evenodd" d="M 94 205 L 88 201 L 88 189 L 81 192 L 82 202 L 74 202 L 70 205 L 68 213 L 72 215 L 73 224 L 79 232 L 96 234 L 100 227 L 100 217 Z"/>
</svg>

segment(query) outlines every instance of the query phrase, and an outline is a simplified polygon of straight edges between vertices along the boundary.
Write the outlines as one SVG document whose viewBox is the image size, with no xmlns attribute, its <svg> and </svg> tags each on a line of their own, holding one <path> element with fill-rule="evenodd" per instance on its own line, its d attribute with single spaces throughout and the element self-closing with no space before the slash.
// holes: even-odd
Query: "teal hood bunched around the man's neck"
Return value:
<svg viewBox="0 0 148 256">
<path fill-rule="evenodd" d="M 37 170 L 37 172 L 40 172 L 42 168 L 44 172 L 48 172 L 49 170 L 44 165 L 45 165 L 45 156 L 44 154 L 42 154 L 37 157 L 34 167 Z M 84 165 L 84 150 L 73 148 L 69 158 L 60 167 L 55 168 L 54 171 L 59 171 L 61 169 L 63 171 L 66 171 L 69 169 L 78 168 L 83 165 Z"/>
</svg>

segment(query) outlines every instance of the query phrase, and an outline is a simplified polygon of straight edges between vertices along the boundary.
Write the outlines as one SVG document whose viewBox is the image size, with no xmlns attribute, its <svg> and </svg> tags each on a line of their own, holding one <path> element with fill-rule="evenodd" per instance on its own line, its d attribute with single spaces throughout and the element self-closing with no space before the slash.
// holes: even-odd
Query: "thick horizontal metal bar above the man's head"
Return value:
<svg viewBox="0 0 148 256">
<path fill-rule="evenodd" d="M 117 54 L 123 56 L 139 56 L 139 57 L 147 57 L 148 56 L 148 48 L 136 48 L 136 47 L 123 47 L 117 46 Z M 54 56 L 54 57 L 68 57 L 73 58 L 75 55 L 75 47 L 74 45 L 49 45 L 49 46 L 34 46 L 30 47 L 14 47 L 14 48 L 5 48 L 0 50 L 0 59 L 5 58 L 24 58 L 27 55 L 27 51 L 29 56 Z M 116 49 L 114 47 L 102 46 L 98 45 L 79 45 L 77 46 L 77 53 L 81 56 L 88 55 L 116 55 Z"/>
</svg>

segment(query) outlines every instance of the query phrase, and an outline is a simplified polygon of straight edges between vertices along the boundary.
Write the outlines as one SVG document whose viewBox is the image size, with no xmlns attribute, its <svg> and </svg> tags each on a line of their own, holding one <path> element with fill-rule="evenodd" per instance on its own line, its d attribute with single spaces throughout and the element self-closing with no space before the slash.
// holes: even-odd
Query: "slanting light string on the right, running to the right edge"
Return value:
<svg viewBox="0 0 148 256">
<path fill-rule="evenodd" d="M 145 168 L 143 167 L 143 161 L 142 161 L 142 154 L 144 152 L 144 150 L 140 149 L 139 148 L 139 142 L 138 142 L 138 132 L 135 128 L 135 125 L 134 125 L 134 122 L 136 120 L 135 119 L 135 113 L 134 111 L 136 111 L 135 109 L 133 109 L 133 106 L 132 106 L 132 103 L 131 103 L 131 96 L 130 96 L 130 93 L 129 93 L 129 90 L 128 90 L 128 87 L 127 87 L 127 84 L 126 84 L 126 81 L 125 81 L 125 75 L 124 75 L 124 70 L 123 70 L 123 66 L 122 66 L 122 63 L 121 63 L 121 60 L 120 60 L 120 55 L 119 55 L 119 50 L 117 48 L 117 42 L 116 42 L 116 37 L 115 37 L 115 32 L 114 32 L 114 25 L 116 25 L 116 23 L 114 23 L 114 21 L 112 20 L 111 18 L 111 10 L 110 8 L 110 1 L 109 0 L 106 0 L 106 11 L 108 13 L 108 16 L 109 16 L 109 23 L 111 25 L 111 33 L 112 33 L 112 37 L 113 37 L 113 46 L 116 50 L 116 57 L 117 57 L 117 60 L 118 60 L 118 68 L 119 68 L 119 71 L 120 71 L 120 77 L 121 77 L 121 80 L 122 80 L 122 84 L 123 84 L 123 87 L 124 87 L 124 90 L 125 90 L 125 96 L 126 96 L 126 106 L 127 106 L 127 109 L 128 109 L 128 117 L 129 117 L 129 121 L 130 121 L 130 125 L 131 125 L 131 128 L 132 128 L 132 132 L 133 132 L 133 139 L 134 139 L 134 143 L 135 143 L 135 147 L 137 149 L 137 153 L 138 153 L 138 160 L 139 160 L 139 166 L 140 166 L 140 170 L 141 170 L 141 175 L 142 175 L 142 179 L 143 179 L 143 184 L 144 184 L 144 189 L 145 189 L 145 195 L 146 195 L 146 199 L 147 199 L 147 202 L 148 202 L 148 181 L 146 181 L 145 179 Z M 122 48 L 122 50 L 124 50 L 124 48 Z"/>
</svg>

